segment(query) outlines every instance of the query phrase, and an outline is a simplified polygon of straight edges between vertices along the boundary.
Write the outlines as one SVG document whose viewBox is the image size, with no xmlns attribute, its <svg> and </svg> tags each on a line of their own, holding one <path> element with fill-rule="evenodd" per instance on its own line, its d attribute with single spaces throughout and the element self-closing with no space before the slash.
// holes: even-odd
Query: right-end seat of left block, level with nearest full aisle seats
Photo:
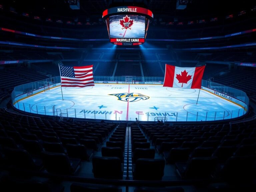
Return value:
<svg viewBox="0 0 256 192">
<path fill-rule="evenodd" d="M 64 153 L 42 152 L 46 170 L 56 174 L 74 174 L 80 166 L 80 159 L 70 159 Z"/>
</svg>

